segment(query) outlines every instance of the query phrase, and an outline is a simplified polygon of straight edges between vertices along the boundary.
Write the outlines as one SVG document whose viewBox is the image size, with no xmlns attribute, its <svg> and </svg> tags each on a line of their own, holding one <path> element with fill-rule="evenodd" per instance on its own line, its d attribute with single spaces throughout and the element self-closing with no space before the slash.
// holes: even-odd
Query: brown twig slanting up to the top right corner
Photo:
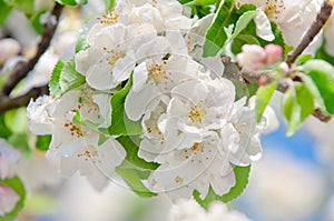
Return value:
<svg viewBox="0 0 334 221">
<path fill-rule="evenodd" d="M 295 48 L 295 50 L 289 53 L 286 58 L 286 63 L 291 66 L 296 58 L 303 53 L 303 51 L 308 47 L 308 44 L 313 41 L 316 34 L 322 30 L 326 21 L 330 19 L 332 13 L 333 6 L 328 3 L 326 0 L 318 12 L 316 20 L 313 22 L 306 34 L 303 37 L 301 43 Z"/>
</svg>

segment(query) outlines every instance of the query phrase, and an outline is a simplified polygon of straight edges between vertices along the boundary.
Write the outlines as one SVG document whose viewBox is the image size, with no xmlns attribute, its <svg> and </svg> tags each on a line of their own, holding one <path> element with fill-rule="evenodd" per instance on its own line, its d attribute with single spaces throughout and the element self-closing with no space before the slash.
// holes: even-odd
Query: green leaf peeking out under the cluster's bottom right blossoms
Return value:
<svg viewBox="0 0 334 221">
<path fill-rule="evenodd" d="M 204 209 L 208 209 L 209 204 L 213 201 L 223 201 L 223 202 L 229 202 L 234 199 L 236 199 L 237 197 L 239 197 L 243 191 L 245 190 L 245 188 L 248 184 L 248 178 L 249 178 L 249 172 L 250 172 L 250 165 L 248 167 L 237 167 L 237 165 L 233 165 L 233 170 L 234 170 L 234 174 L 235 174 L 235 181 L 236 184 L 230 188 L 229 192 L 224 194 L 224 195 L 217 195 L 215 193 L 215 191 L 213 190 L 212 187 L 209 187 L 209 191 L 206 195 L 206 198 L 204 200 L 202 200 L 199 198 L 199 192 L 197 190 L 195 190 L 193 192 L 193 195 L 195 198 L 195 200 L 204 208 Z"/>
</svg>

